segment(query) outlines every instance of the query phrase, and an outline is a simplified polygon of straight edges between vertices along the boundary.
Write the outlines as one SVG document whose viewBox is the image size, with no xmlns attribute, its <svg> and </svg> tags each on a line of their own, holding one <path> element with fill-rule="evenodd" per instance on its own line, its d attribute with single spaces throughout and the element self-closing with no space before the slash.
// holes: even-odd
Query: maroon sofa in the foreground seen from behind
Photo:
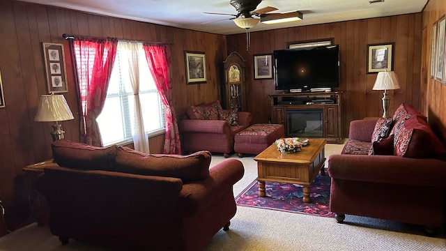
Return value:
<svg viewBox="0 0 446 251">
<path fill-rule="evenodd" d="M 37 188 L 49 206 L 49 227 L 69 238 L 118 250 L 201 250 L 236 213 L 238 160 L 209 168 L 208 151 L 146 155 L 65 139 L 52 145 L 60 167 L 46 168 Z"/>
</svg>

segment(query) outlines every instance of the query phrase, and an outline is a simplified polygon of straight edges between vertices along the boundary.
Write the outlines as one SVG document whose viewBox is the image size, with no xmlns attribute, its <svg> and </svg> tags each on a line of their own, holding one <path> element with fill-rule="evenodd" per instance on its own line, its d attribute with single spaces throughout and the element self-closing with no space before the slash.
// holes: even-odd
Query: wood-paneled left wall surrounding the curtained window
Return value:
<svg viewBox="0 0 446 251">
<path fill-rule="evenodd" d="M 50 123 L 34 121 L 39 98 L 47 94 L 43 42 L 64 45 L 69 89 L 64 95 L 75 119 L 63 122 L 62 127 L 67 139 L 79 141 L 78 105 L 70 49 L 62 38 L 63 33 L 173 43 L 172 93 L 178 117 L 185 113 L 187 106 L 210 102 L 219 96 L 220 68 L 226 58 L 226 36 L 1 0 L 0 70 L 6 108 L 0 108 L 0 199 L 6 207 L 6 221 L 10 229 L 24 224 L 31 213 L 22 168 L 52 158 Z M 206 53 L 207 84 L 185 84 L 185 50 Z M 151 139 L 151 151 L 159 153 L 163 144 L 163 136 Z M 0 236 L 5 234 L 3 227 L 0 227 Z"/>
</svg>

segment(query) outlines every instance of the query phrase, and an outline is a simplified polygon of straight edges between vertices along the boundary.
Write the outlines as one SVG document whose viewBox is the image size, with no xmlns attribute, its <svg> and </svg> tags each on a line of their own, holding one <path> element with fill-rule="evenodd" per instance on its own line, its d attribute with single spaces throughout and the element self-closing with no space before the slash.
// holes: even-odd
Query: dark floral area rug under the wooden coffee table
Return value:
<svg viewBox="0 0 446 251">
<path fill-rule="evenodd" d="M 259 197 L 259 183 L 255 180 L 236 197 L 236 204 L 334 218 L 334 213 L 328 208 L 330 176 L 316 176 L 310 185 L 310 203 L 302 201 L 304 197 L 302 188 L 302 185 L 297 184 L 266 181 L 266 197 Z"/>
</svg>

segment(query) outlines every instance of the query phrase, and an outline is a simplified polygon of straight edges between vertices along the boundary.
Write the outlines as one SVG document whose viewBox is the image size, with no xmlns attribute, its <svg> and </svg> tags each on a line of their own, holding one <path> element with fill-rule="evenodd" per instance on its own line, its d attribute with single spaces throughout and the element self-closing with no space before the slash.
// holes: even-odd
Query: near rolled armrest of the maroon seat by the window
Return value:
<svg viewBox="0 0 446 251">
<path fill-rule="evenodd" d="M 180 132 L 208 132 L 231 134 L 229 123 L 223 120 L 185 119 L 178 125 Z"/>
</svg>

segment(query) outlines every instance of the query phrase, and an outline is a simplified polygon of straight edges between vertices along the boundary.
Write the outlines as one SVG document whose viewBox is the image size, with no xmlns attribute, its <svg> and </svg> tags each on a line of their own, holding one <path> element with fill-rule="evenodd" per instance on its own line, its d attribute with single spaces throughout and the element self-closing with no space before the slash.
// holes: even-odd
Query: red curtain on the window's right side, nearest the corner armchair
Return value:
<svg viewBox="0 0 446 251">
<path fill-rule="evenodd" d="M 148 67 L 151 70 L 153 79 L 160 93 L 162 103 L 166 107 L 166 139 L 164 142 L 164 153 L 181 154 L 180 134 L 174 107 L 171 106 L 171 78 L 170 68 L 170 50 L 166 44 L 148 44 L 144 43 L 144 51 Z"/>
</svg>

